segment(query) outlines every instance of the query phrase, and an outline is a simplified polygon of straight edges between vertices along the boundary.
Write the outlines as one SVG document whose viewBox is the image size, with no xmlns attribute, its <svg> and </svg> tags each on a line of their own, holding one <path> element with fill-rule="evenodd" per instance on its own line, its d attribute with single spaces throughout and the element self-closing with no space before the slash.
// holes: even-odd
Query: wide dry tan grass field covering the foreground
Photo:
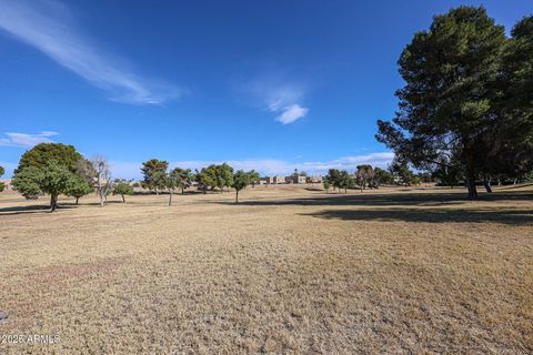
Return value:
<svg viewBox="0 0 533 355">
<path fill-rule="evenodd" d="M 533 187 L 464 194 L 1 194 L 0 334 L 60 342 L 0 354 L 532 353 Z"/>
</svg>

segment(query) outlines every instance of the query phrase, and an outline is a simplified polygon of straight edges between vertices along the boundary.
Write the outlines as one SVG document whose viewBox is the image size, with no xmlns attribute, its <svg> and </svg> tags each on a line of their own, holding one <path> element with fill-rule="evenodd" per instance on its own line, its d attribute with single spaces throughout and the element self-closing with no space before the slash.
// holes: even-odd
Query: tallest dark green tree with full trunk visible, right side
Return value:
<svg viewBox="0 0 533 355">
<path fill-rule="evenodd" d="M 506 37 L 485 9 L 460 7 L 436 16 L 400 57 L 405 87 L 400 110 L 378 121 L 376 139 L 415 168 L 431 170 L 460 152 L 469 197 L 475 199 L 477 141 L 497 123 L 494 90 Z"/>
</svg>

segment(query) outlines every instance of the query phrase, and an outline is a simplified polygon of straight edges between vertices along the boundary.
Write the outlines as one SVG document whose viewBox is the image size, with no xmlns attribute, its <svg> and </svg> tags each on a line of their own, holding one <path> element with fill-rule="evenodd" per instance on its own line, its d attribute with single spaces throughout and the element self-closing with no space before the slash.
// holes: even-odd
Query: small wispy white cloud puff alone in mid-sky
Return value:
<svg viewBox="0 0 533 355">
<path fill-rule="evenodd" d="M 282 124 L 293 123 L 309 112 L 302 105 L 305 85 L 289 82 L 278 75 L 258 78 L 242 85 L 241 91 L 251 94 L 261 106 L 275 113 L 274 120 Z"/>
</svg>

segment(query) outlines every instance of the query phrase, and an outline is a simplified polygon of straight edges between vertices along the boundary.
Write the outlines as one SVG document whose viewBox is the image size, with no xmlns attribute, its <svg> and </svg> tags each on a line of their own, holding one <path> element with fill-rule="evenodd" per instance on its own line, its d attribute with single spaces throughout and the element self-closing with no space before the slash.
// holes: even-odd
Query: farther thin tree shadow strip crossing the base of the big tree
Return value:
<svg viewBox="0 0 533 355">
<path fill-rule="evenodd" d="M 532 201 L 533 195 L 527 192 L 494 192 L 483 193 L 475 201 Z M 324 194 L 312 197 L 299 197 L 286 200 L 245 200 L 239 201 L 240 205 L 268 206 L 268 205 L 331 205 L 331 206 L 395 206 L 395 205 L 420 205 L 441 206 L 450 204 L 462 204 L 470 202 L 466 193 L 358 193 L 358 194 Z M 213 201 L 219 204 L 232 204 L 229 201 Z"/>
</svg>

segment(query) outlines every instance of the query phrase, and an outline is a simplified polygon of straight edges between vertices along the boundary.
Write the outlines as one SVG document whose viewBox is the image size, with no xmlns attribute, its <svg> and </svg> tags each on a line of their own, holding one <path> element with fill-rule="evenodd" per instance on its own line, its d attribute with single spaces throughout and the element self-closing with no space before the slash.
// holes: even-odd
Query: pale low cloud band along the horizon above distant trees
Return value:
<svg viewBox="0 0 533 355">
<path fill-rule="evenodd" d="M 349 172 L 355 171 L 355 168 L 361 164 L 371 164 L 373 166 L 385 168 L 390 164 L 394 153 L 391 152 L 378 152 L 361 155 L 342 156 L 330 161 L 311 161 L 311 162 L 288 162 L 283 160 L 274 159 L 250 159 L 250 160 L 229 160 L 228 164 L 239 170 L 257 170 L 262 175 L 273 174 L 290 174 L 298 169 L 299 171 L 305 171 L 309 174 L 325 174 L 329 169 L 346 170 Z M 123 179 L 140 179 L 141 178 L 141 162 L 121 162 L 111 161 L 111 168 L 113 176 Z M 201 169 L 209 164 L 220 164 L 223 161 L 177 161 L 171 162 L 170 166 L 187 168 L 187 169 Z"/>
</svg>

